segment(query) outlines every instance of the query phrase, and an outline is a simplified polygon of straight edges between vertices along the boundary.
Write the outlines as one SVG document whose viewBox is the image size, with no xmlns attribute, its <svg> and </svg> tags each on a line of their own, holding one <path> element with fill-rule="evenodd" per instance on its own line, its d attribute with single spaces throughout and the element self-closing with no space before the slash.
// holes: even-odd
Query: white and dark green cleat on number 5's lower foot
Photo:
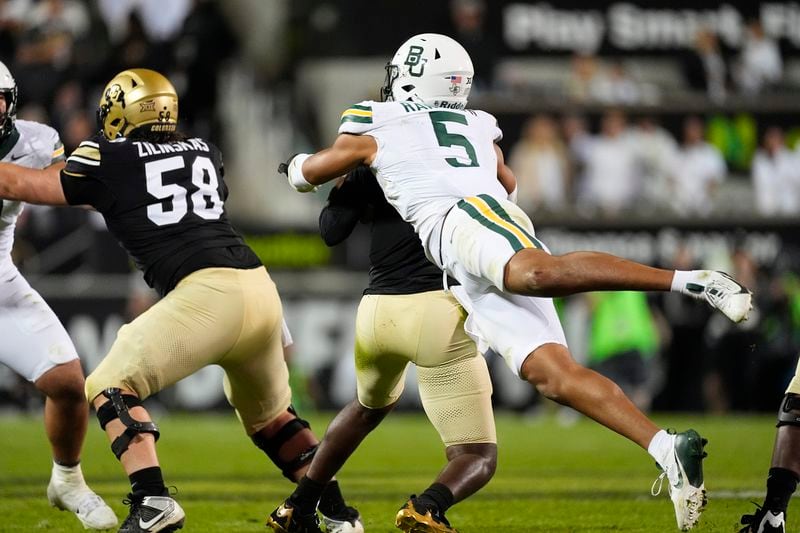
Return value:
<svg viewBox="0 0 800 533">
<path fill-rule="evenodd" d="M 661 492 L 660 483 L 667 478 L 669 496 L 675 506 L 675 519 L 681 531 L 688 531 L 697 525 L 706 507 L 703 481 L 703 459 L 706 456 L 703 447 L 706 442 L 693 429 L 672 435 L 672 449 L 659 463 L 662 472 L 651 488 L 651 494 L 658 496 Z M 657 489 L 656 484 L 659 484 Z"/>
</svg>

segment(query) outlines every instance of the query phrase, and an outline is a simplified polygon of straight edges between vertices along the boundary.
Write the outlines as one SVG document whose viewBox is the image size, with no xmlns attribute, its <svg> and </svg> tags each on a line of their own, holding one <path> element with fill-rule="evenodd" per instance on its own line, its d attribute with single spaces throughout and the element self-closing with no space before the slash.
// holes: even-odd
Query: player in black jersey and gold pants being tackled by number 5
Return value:
<svg viewBox="0 0 800 533">
<path fill-rule="evenodd" d="M 464 331 L 466 313 L 442 289 L 442 272 L 425 257 L 414 228 L 389 205 L 366 166 L 331 190 L 320 233 L 333 246 L 359 221 L 370 223 L 371 268 L 356 317 L 358 399 L 331 422 L 308 473 L 268 523 L 279 532 L 300 531 L 290 520 L 313 524 L 325 484 L 394 408 L 408 364 L 414 363 L 422 405 L 446 446 L 448 464 L 430 487 L 406 502 L 395 524 L 403 531 L 455 533 L 445 512 L 486 485 L 497 464 L 486 361 Z"/>
</svg>

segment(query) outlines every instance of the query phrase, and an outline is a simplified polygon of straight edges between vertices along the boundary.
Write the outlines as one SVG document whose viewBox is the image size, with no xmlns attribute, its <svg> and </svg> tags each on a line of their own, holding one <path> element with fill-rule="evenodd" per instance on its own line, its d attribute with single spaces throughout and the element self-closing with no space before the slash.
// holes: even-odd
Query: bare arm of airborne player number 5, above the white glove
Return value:
<svg viewBox="0 0 800 533">
<path fill-rule="evenodd" d="M 378 153 L 378 143 L 369 135 L 342 133 L 333 146 L 309 156 L 303 161 L 306 181 L 322 185 L 336 179 L 358 165 L 371 165 Z"/>
</svg>

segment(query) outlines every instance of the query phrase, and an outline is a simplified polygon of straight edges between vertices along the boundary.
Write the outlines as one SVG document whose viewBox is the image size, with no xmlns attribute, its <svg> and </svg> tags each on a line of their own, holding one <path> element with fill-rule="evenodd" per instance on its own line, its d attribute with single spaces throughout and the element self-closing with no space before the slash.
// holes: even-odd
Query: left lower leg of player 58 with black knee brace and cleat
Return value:
<svg viewBox="0 0 800 533">
<path fill-rule="evenodd" d="M 91 379 L 91 377 L 90 377 Z M 156 455 L 156 426 L 132 391 L 108 388 L 94 398 L 97 418 L 131 483 L 123 500 L 130 506 L 119 533 L 165 533 L 183 527 L 186 517 L 169 495 Z"/>
</svg>

